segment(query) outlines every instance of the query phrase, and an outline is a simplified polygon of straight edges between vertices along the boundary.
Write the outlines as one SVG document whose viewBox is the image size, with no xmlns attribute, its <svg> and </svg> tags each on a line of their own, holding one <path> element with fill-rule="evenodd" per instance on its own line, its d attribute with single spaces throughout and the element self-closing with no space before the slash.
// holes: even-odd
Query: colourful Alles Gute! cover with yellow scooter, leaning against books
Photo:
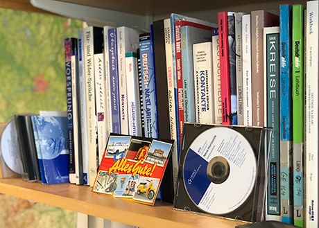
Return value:
<svg viewBox="0 0 319 228">
<path fill-rule="evenodd" d="M 171 139 L 111 133 L 93 191 L 154 205 L 172 146 Z"/>
</svg>

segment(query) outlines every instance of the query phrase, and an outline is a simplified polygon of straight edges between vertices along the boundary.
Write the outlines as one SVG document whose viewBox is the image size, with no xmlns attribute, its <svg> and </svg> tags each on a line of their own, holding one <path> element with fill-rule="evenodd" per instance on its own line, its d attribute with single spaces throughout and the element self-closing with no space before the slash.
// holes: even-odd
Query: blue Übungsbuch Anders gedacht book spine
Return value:
<svg viewBox="0 0 319 228">
<path fill-rule="evenodd" d="M 121 134 L 121 114 L 119 103 L 119 69 L 117 59 L 117 28 L 108 31 L 109 56 L 110 56 L 110 93 L 112 107 L 112 132 Z"/>
</svg>

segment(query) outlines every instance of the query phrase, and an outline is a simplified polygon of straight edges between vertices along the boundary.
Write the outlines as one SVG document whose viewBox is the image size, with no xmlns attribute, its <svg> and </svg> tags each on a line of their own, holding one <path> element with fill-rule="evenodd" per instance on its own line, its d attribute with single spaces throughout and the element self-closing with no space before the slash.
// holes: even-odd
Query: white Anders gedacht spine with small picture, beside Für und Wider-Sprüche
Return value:
<svg viewBox="0 0 319 228">
<path fill-rule="evenodd" d="M 104 81 L 104 55 L 94 54 L 94 79 L 95 98 L 98 129 L 98 164 L 101 164 L 103 153 L 106 147 L 107 128 L 105 124 L 105 81 Z"/>
</svg>

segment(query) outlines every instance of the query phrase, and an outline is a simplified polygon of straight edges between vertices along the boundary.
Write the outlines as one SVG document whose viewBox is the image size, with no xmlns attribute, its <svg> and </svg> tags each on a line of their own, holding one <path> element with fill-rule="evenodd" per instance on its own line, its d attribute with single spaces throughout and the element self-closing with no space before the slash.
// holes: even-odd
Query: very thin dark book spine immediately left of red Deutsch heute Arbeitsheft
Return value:
<svg viewBox="0 0 319 228">
<path fill-rule="evenodd" d="M 180 160 L 180 121 L 178 119 L 178 85 L 176 76 L 176 51 L 175 51 L 175 21 L 182 19 L 181 15 L 171 14 L 171 43 L 173 55 L 173 78 L 175 96 L 175 119 L 176 119 L 176 145 L 178 148 L 178 161 Z"/>
</svg>

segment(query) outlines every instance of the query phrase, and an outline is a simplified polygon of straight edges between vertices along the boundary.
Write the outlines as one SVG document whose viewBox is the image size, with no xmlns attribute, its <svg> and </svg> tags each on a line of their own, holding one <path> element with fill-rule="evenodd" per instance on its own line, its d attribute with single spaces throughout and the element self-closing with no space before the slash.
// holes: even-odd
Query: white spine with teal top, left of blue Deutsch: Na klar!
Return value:
<svg viewBox="0 0 319 228">
<path fill-rule="evenodd" d="M 128 85 L 128 132 L 130 135 L 141 137 L 141 108 L 139 105 L 136 53 L 126 53 L 126 82 Z"/>
</svg>

